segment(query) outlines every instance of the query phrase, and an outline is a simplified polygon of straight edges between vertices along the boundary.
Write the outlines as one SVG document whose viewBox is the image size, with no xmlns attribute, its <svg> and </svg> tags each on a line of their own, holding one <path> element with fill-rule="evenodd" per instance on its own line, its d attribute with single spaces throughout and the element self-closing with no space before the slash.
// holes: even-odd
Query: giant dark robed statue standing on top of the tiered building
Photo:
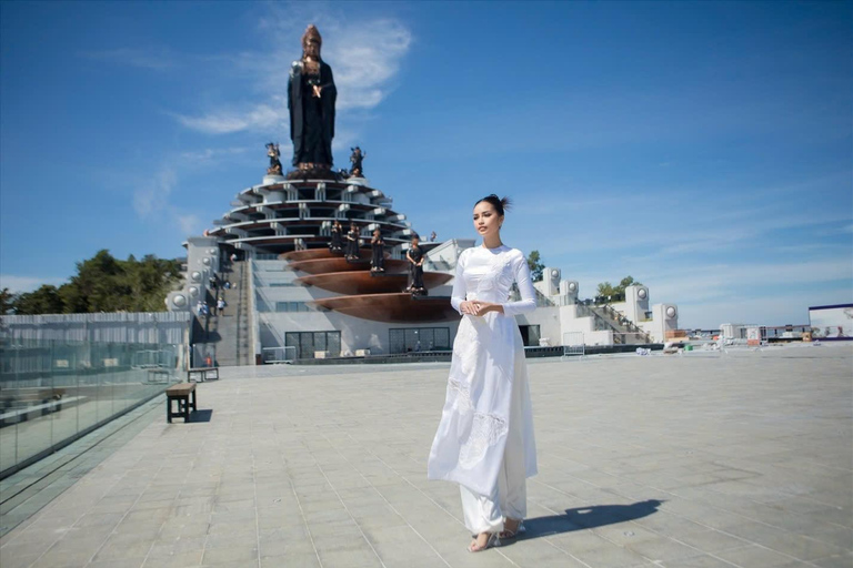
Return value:
<svg viewBox="0 0 853 568">
<path fill-rule="evenodd" d="M 290 68 L 288 109 L 293 165 L 302 173 L 331 175 L 334 138 L 334 87 L 332 68 L 320 58 L 323 39 L 314 24 L 302 36 L 302 59 Z"/>
</svg>

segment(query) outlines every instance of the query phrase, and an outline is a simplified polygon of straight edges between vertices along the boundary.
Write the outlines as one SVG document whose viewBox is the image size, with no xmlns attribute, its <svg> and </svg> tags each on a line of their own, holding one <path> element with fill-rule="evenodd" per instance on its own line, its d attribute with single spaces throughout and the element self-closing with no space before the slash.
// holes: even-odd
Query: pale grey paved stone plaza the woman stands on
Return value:
<svg viewBox="0 0 853 568">
<path fill-rule="evenodd" d="M 530 362 L 528 532 L 425 463 L 448 364 L 225 369 L 0 539 L 19 567 L 853 566 L 853 348 Z"/>
</svg>

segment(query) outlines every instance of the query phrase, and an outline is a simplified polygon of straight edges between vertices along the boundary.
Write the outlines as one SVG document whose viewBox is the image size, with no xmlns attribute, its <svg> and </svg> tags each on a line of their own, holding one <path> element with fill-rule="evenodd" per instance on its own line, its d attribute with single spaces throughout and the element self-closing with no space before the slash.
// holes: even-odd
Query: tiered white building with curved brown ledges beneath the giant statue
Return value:
<svg viewBox="0 0 853 568">
<path fill-rule="evenodd" d="M 361 258 L 332 251 L 332 226 L 354 223 Z M 405 252 L 414 232 L 392 200 L 363 178 L 292 180 L 267 175 L 241 191 L 204 236 L 189 239 L 185 281 L 167 297 L 170 311 L 225 294 L 217 318 L 193 325 L 194 357 L 220 365 L 295 358 L 449 351 L 459 324 L 450 307 L 452 278 L 471 239 L 422 242 L 429 295 L 404 292 Z M 370 239 L 379 230 L 385 272 L 370 271 Z M 233 261 L 232 261 L 233 260 Z M 545 268 L 533 314 L 518 316 L 528 346 L 662 343 L 678 328 L 678 308 L 651 304 L 645 286 L 629 286 L 608 304 L 581 300 L 580 284 Z M 211 282 L 233 287 L 211 291 Z"/>
</svg>

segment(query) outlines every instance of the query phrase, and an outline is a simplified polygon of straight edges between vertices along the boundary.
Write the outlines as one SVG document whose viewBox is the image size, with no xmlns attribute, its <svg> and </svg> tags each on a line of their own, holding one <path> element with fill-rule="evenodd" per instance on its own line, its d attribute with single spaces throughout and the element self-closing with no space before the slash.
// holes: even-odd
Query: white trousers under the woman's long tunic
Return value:
<svg viewBox="0 0 853 568">
<path fill-rule="evenodd" d="M 465 528 L 472 535 L 500 532 L 504 518 L 521 520 L 528 515 L 526 475 L 524 469 L 524 437 L 521 428 L 523 388 L 513 388 L 510 400 L 510 425 L 506 449 L 498 473 L 498 486 L 492 495 L 480 495 L 459 486 Z"/>
</svg>

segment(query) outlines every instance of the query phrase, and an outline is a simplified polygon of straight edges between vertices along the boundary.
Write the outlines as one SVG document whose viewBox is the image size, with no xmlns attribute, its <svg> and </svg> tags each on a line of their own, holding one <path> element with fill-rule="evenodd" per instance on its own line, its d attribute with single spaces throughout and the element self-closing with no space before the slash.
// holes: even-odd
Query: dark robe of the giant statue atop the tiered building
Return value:
<svg viewBox="0 0 853 568">
<path fill-rule="evenodd" d="M 300 61 L 290 68 L 288 109 L 290 109 L 290 140 L 293 142 L 293 165 L 300 163 L 332 165 L 334 138 L 334 87 L 332 68 L 320 61 L 321 97 L 313 95 L 309 75 Z"/>
</svg>

